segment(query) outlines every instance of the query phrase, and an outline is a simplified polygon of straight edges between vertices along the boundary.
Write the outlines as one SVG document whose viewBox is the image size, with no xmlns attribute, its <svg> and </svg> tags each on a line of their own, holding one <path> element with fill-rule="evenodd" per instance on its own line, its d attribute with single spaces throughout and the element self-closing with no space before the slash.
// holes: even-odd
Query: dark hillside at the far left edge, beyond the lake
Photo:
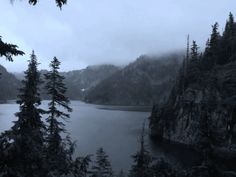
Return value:
<svg viewBox="0 0 236 177">
<path fill-rule="evenodd" d="M 0 100 L 16 99 L 20 81 L 0 65 Z"/>
</svg>

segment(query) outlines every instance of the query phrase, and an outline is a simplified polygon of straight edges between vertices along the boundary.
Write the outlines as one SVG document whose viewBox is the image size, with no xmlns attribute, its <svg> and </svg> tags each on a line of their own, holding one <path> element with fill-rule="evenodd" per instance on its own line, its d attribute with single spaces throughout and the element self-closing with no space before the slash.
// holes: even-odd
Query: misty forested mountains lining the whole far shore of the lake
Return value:
<svg viewBox="0 0 236 177">
<path fill-rule="evenodd" d="M 82 100 L 93 104 L 152 106 L 167 99 L 183 55 L 183 52 L 159 57 L 142 55 L 125 67 L 104 64 L 61 72 L 65 77 L 66 95 L 71 100 Z M 42 75 L 47 72 L 47 70 L 40 71 Z M 4 73 L 12 75 L 6 70 Z M 15 82 L 10 82 L 7 75 L 0 78 L 0 82 L 11 89 L 3 89 L 4 97 L 0 95 L 0 100 L 16 99 L 17 88 L 23 79 L 23 73 L 14 73 L 18 80 L 12 76 Z M 15 86 L 12 86 L 13 84 Z M 42 99 L 49 99 L 44 84 L 41 86 L 40 94 Z"/>
</svg>

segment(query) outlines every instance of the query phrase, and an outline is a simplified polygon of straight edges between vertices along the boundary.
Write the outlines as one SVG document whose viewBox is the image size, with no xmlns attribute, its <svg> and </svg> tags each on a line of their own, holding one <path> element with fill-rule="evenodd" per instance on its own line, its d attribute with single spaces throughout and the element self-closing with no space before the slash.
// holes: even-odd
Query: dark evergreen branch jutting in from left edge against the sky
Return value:
<svg viewBox="0 0 236 177">
<path fill-rule="evenodd" d="M 17 48 L 17 45 L 3 42 L 0 36 L 0 57 L 4 56 L 8 61 L 13 61 L 12 56 L 24 55 L 24 52 Z"/>
</svg>

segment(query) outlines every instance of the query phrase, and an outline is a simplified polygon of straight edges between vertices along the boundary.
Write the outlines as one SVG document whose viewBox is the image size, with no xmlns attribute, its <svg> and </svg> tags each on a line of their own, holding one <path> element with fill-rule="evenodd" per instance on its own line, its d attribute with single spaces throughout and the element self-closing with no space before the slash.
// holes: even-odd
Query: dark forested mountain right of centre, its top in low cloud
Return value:
<svg viewBox="0 0 236 177">
<path fill-rule="evenodd" d="M 168 97 L 182 53 L 142 55 L 86 92 L 85 101 L 112 105 L 152 105 Z"/>
</svg>

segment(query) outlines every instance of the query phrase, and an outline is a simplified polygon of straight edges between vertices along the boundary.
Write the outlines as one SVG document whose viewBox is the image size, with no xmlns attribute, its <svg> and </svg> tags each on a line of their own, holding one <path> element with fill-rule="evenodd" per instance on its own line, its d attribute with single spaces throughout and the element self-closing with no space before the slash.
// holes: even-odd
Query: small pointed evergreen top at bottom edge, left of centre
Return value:
<svg viewBox="0 0 236 177">
<path fill-rule="evenodd" d="M 108 160 L 108 155 L 103 148 L 99 148 L 96 152 L 95 165 L 92 167 L 91 177 L 112 177 L 112 167 Z"/>
</svg>

